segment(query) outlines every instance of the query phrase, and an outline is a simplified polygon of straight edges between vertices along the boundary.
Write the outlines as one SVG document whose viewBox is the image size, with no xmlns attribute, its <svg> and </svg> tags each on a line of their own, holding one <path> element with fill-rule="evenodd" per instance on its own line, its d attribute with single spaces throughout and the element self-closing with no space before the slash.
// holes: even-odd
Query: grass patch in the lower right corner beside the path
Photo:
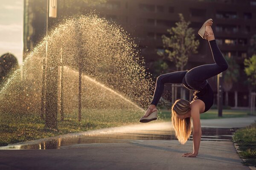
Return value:
<svg viewBox="0 0 256 170">
<path fill-rule="evenodd" d="M 239 155 L 246 159 L 243 164 L 256 167 L 256 122 L 236 130 L 233 141 L 239 145 Z"/>
</svg>

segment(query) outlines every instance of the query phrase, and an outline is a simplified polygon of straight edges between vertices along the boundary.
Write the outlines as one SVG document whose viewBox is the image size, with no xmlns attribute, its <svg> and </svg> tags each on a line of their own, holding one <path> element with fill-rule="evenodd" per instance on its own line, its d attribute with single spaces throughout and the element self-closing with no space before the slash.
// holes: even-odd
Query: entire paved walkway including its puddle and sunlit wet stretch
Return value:
<svg viewBox="0 0 256 170">
<path fill-rule="evenodd" d="M 171 122 L 155 121 L 0 147 L 0 169 L 249 170 L 241 164 L 231 139 L 237 128 L 255 120 L 256 116 L 201 120 L 202 141 L 196 158 L 181 157 L 193 150 L 192 140 L 180 144 Z"/>
</svg>

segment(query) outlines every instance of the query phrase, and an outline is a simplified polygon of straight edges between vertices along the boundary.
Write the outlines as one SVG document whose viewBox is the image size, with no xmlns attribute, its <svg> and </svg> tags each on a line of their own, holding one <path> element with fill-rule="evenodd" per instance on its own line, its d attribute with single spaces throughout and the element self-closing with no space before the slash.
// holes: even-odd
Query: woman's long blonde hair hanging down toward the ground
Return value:
<svg viewBox="0 0 256 170">
<path fill-rule="evenodd" d="M 185 144 L 191 135 L 191 119 L 179 119 L 177 115 L 184 115 L 189 111 L 190 102 L 185 99 L 178 99 L 172 105 L 172 125 L 175 130 L 175 136 L 181 144 Z"/>
</svg>

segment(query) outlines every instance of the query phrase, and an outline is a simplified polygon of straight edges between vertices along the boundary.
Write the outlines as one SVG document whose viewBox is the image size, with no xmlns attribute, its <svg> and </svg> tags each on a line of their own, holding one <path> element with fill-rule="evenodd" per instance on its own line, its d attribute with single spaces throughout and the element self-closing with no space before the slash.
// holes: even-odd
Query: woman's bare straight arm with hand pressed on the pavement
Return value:
<svg viewBox="0 0 256 170">
<path fill-rule="evenodd" d="M 194 149 L 194 152 L 190 153 L 190 154 L 183 155 L 186 157 L 196 157 L 198 155 L 200 142 L 201 142 L 201 135 L 202 135 L 199 107 L 191 108 L 191 117 L 193 120 L 193 149 Z"/>
</svg>

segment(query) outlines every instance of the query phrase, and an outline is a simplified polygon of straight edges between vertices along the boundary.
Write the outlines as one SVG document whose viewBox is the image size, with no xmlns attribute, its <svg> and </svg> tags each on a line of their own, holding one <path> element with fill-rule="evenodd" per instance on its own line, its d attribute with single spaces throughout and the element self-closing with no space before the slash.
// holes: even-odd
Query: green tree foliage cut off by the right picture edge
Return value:
<svg viewBox="0 0 256 170">
<path fill-rule="evenodd" d="M 251 83 L 253 90 L 256 90 L 256 54 L 249 59 L 244 59 L 244 66 L 244 71 L 248 76 L 248 81 Z"/>
</svg>

